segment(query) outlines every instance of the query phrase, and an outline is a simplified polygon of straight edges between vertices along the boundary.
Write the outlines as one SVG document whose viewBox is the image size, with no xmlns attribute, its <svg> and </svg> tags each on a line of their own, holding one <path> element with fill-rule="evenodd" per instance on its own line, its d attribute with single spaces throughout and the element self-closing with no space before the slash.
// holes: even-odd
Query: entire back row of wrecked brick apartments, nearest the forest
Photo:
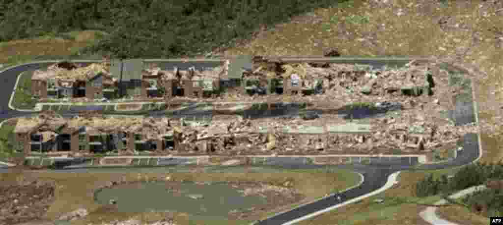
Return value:
<svg viewBox="0 0 503 225">
<path fill-rule="evenodd" d="M 163 70 L 156 64 L 145 66 L 141 59 L 130 61 L 128 67 L 118 66 L 122 63 L 118 60 L 88 66 L 53 64 L 47 70 L 34 72 L 32 94 L 42 99 L 202 98 L 227 89 L 242 95 L 311 95 L 342 88 L 365 95 L 396 92 L 417 96 L 430 93 L 433 87 L 432 74 L 425 66 L 381 71 L 344 63 L 233 59 L 200 71 L 194 66 Z"/>
</svg>

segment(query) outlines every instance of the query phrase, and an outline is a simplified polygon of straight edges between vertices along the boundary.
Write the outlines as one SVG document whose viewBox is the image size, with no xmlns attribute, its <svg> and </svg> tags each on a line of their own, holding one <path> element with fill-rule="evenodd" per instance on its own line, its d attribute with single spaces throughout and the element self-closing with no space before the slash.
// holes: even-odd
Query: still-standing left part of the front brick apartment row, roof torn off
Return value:
<svg viewBox="0 0 503 225">
<path fill-rule="evenodd" d="M 158 151 L 173 147 L 173 130 L 166 118 L 138 119 L 76 116 L 71 119 L 40 114 L 20 118 L 14 129 L 24 153 L 104 153 L 131 149 Z"/>
</svg>

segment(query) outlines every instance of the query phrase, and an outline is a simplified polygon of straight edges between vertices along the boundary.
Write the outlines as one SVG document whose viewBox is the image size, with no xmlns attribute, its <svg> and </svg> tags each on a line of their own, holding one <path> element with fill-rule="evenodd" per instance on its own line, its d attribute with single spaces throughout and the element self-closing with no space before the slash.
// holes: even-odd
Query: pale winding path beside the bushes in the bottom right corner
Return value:
<svg viewBox="0 0 503 225">
<path fill-rule="evenodd" d="M 458 191 L 452 195 L 449 195 L 448 198 L 451 198 L 451 199 L 460 198 L 460 197 L 463 197 L 463 196 L 468 195 L 470 193 L 473 193 L 475 191 L 484 190 L 486 188 L 487 187 L 485 185 L 478 185 L 478 186 L 469 187 L 469 188 L 463 189 L 461 191 Z M 436 202 L 435 205 L 444 205 L 446 203 L 447 203 L 447 201 L 445 199 L 442 199 L 442 200 Z M 438 209 L 438 207 L 429 206 L 425 210 L 420 212 L 419 215 L 425 221 L 427 221 L 431 224 L 434 224 L 434 225 L 458 225 L 458 223 L 450 222 L 448 220 L 445 220 L 445 219 L 438 217 L 437 209 Z"/>
</svg>

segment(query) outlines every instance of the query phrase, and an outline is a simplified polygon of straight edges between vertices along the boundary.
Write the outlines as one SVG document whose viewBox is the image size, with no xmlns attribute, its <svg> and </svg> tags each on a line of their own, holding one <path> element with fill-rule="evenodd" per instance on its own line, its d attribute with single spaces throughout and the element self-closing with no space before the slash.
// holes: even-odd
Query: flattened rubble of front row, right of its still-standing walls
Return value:
<svg viewBox="0 0 503 225">
<path fill-rule="evenodd" d="M 376 151 L 429 152 L 431 149 L 454 144 L 463 134 L 477 132 L 473 125 L 438 125 L 429 121 L 415 121 L 407 125 L 405 118 L 382 118 L 371 133 L 290 134 L 286 126 L 296 127 L 298 120 L 271 122 L 270 120 L 237 119 L 221 121 L 209 126 L 184 127 L 180 142 L 184 151 L 218 151 L 219 153 L 266 151 L 306 152 L 336 151 L 372 154 Z M 264 126 L 264 124 L 268 124 Z M 327 124 L 330 125 L 330 124 Z M 267 133 L 259 133 L 261 129 Z"/>
</svg>

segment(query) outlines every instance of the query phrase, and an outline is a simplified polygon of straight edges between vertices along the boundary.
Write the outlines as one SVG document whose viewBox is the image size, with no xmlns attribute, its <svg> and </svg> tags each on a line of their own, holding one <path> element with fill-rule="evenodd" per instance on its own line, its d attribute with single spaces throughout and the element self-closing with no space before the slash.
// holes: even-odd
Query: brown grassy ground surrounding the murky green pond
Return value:
<svg viewBox="0 0 503 225">
<path fill-rule="evenodd" d="M 228 181 L 231 183 L 248 183 L 246 187 L 254 187 L 253 184 L 267 183 L 274 186 L 293 188 L 298 190 L 299 194 L 292 195 L 292 198 L 272 197 L 275 191 L 267 193 L 271 194 L 271 204 L 261 206 L 264 210 L 256 210 L 257 213 L 244 214 L 243 219 L 255 219 L 264 216 L 268 212 L 276 210 L 284 210 L 290 203 L 312 201 L 325 193 L 328 193 L 332 188 L 344 189 L 347 182 L 334 179 L 333 175 L 318 174 L 318 173 L 204 173 L 196 170 L 193 173 L 147 173 L 147 174 L 59 174 L 46 173 L 41 171 L 22 171 L 13 172 L 10 174 L 0 174 L 2 183 L 16 182 L 16 180 L 50 180 L 55 184 L 54 202 L 50 205 L 47 213 L 42 213 L 41 218 L 33 219 L 55 219 L 65 212 L 73 211 L 77 208 L 87 208 L 90 215 L 82 220 L 75 221 L 78 225 L 88 223 L 101 223 L 103 221 L 125 220 L 131 216 L 145 216 L 150 218 L 156 213 L 116 213 L 116 209 L 109 205 L 98 205 L 94 199 L 94 192 L 107 185 L 113 185 L 112 181 L 116 182 L 138 182 L 138 181 L 153 181 L 165 180 L 171 177 L 170 181 L 196 181 L 196 182 L 219 182 Z M 316 184 L 317 188 L 312 189 L 310 185 Z M 353 185 L 353 184 L 350 184 Z M 243 186 L 244 187 L 244 186 Z M 304 200 L 302 200 L 304 199 Z M 280 202 L 283 200 L 283 202 Z M 276 202 L 278 201 L 278 202 Z M 277 205 L 283 207 L 276 207 Z M 47 205 L 49 206 L 49 205 Z M 276 208 L 276 209 L 274 209 Z M 159 214 L 159 213 L 157 213 Z M 162 213 L 160 213 L 162 214 Z M 234 214 L 231 216 L 238 216 Z M 163 215 L 167 216 L 167 215 Z M 184 217 L 182 214 L 176 216 Z M 177 220 L 178 221 L 178 220 Z M 231 220 L 232 221 L 232 220 Z M 73 223 L 72 223 L 73 224 Z M 178 223 L 177 223 L 178 224 Z"/>
</svg>

